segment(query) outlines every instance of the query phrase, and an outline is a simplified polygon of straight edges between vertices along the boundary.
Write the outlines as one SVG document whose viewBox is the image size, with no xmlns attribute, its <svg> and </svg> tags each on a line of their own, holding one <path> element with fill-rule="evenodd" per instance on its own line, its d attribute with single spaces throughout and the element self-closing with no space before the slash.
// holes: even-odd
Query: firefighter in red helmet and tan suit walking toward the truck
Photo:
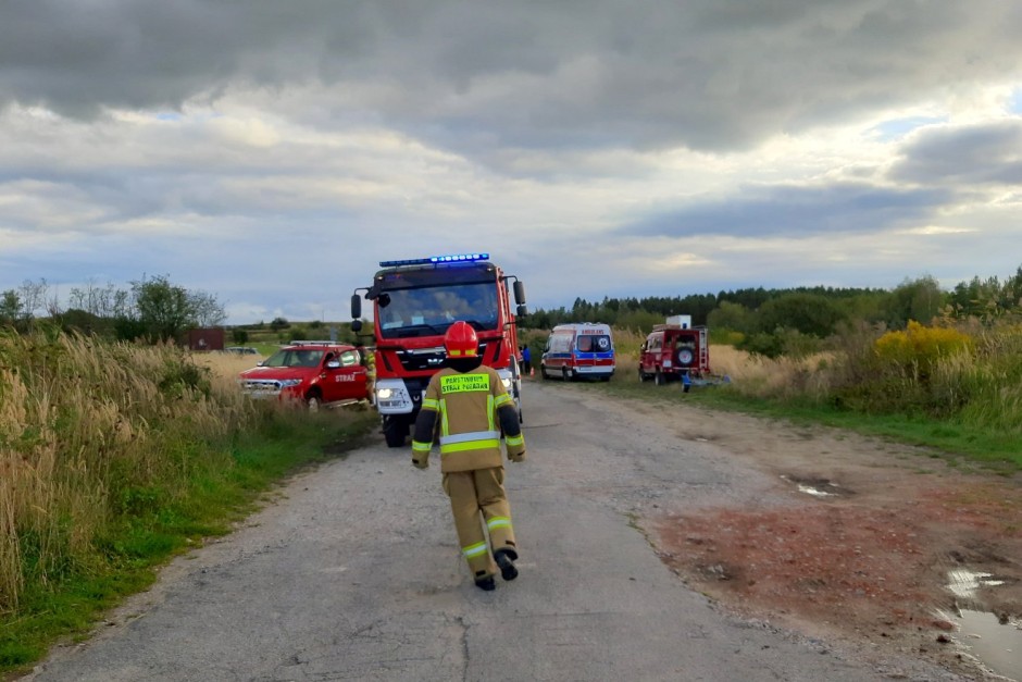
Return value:
<svg viewBox="0 0 1022 682">
<path fill-rule="evenodd" d="M 476 586 L 489 592 L 497 587 L 497 569 L 504 580 L 519 574 L 500 437 L 503 433 L 508 459 L 513 462 L 525 460 L 525 438 L 500 375 L 477 355 L 475 330 L 466 322 L 454 322 L 444 336 L 444 347 L 447 362 L 429 380 L 415 420 L 412 464 L 429 466 L 429 451 L 439 433 L 444 492 L 451 500 L 461 553 Z"/>
</svg>

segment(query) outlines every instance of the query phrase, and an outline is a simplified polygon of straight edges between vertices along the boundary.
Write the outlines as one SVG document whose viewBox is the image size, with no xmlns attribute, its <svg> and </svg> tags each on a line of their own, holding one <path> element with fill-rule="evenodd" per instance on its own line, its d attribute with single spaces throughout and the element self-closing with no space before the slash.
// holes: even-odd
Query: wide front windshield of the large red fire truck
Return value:
<svg viewBox="0 0 1022 682">
<path fill-rule="evenodd" d="M 383 338 L 437 336 L 456 320 L 476 331 L 497 327 L 497 285 L 493 282 L 388 289 L 376 299 Z"/>
</svg>

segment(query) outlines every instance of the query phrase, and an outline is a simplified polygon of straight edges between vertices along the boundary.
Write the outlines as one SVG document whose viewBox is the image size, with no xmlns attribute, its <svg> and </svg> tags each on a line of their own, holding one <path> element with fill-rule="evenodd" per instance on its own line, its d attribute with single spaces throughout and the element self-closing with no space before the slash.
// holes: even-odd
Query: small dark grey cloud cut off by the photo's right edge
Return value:
<svg viewBox="0 0 1022 682">
<path fill-rule="evenodd" d="M 890 176 L 920 184 L 1022 185 L 1022 121 L 922 131 Z"/>
</svg>

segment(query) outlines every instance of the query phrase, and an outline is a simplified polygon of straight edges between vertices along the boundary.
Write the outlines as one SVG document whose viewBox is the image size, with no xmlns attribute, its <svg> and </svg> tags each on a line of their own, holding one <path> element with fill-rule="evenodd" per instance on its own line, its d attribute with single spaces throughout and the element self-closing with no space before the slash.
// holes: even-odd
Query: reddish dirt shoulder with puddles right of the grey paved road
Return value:
<svg viewBox="0 0 1022 682">
<path fill-rule="evenodd" d="M 672 499 L 644 514 L 687 584 L 862 653 L 1022 680 L 1022 476 L 834 430 L 637 409 L 773 482 L 737 504 Z"/>
</svg>

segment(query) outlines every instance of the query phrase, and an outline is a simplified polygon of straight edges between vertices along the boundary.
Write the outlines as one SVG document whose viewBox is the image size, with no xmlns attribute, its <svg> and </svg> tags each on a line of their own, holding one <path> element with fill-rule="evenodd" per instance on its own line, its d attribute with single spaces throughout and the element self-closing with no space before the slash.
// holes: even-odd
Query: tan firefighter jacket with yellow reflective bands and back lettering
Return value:
<svg viewBox="0 0 1022 682">
<path fill-rule="evenodd" d="M 525 454 L 514 400 L 490 367 L 469 372 L 447 367 L 433 375 L 415 420 L 414 461 L 428 461 L 438 431 L 444 472 L 502 466 L 501 435 L 510 459 L 521 461 Z"/>
</svg>

